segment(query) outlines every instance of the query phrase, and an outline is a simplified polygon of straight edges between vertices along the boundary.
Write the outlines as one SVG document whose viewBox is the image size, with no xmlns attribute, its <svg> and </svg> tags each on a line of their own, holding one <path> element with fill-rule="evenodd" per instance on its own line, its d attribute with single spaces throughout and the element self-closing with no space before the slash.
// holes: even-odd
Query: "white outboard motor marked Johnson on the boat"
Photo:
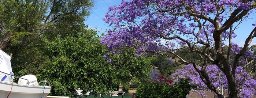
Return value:
<svg viewBox="0 0 256 98">
<path fill-rule="evenodd" d="M 25 80 L 25 79 L 29 80 L 29 82 L 27 82 L 27 80 Z M 29 84 L 27 84 L 27 83 L 29 83 Z M 18 84 L 29 85 L 29 86 L 38 86 L 37 78 L 35 75 L 22 76 L 21 78 L 19 78 Z"/>
</svg>

